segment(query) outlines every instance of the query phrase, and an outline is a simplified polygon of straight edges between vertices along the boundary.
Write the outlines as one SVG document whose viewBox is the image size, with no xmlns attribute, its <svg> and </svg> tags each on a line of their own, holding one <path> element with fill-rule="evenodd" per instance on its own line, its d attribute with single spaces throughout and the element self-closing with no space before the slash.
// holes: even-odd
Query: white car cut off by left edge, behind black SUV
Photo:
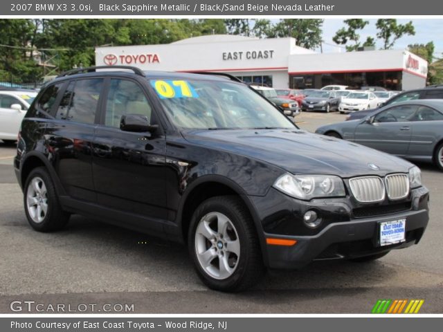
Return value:
<svg viewBox="0 0 443 332">
<path fill-rule="evenodd" d="M 37 92 L 0 91 L 0 139 L 5 143 L 17 140 L 21 120 L 32 104 Z"/>
</svg>

